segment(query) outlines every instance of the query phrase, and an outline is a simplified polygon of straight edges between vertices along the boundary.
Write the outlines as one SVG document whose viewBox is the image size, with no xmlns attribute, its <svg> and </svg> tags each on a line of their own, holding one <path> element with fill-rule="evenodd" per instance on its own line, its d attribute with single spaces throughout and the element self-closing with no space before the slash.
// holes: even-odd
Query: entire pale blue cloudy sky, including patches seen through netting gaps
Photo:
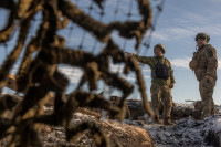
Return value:
<svg viewBox="0 0 221 147">
<path fill-rule="evenodd" d="M 118 4 L 116 4 L 119 2 Z M 102 19 L 104 22 L 109 22 L 113 20 L 126 20 L 125 13 L 128 12 L 129 9 L 129 0 L 107 0 L 106 3 L 106 15 Z M 152 0 L 152 6 L 159 2 Z M 88 7 L 88 0 L 81 0 L 78 6 L 84 10 Z M 108 7 L 107 7 L 108 6 Z M 119 8 L 119 13 L 114 15 L 114 10 L 116 7 Z M 166 46 L 166 57 L 172 64 L 176 85 L 172 90 L 173 101 L 177 103 L 183 103 L 187 99 L 198 101 L 200 99 L 199 95 L 199 83 L 194 77 L 194 73 L 188 67 L 189 61 L 192 57 L 192 53 L 196 51 L 196 41 L 194 36 L 199 32 L 206 32 L 210 34 L 211 40 L 209 44 L 212 44 L 218 51 L 219 61 L 220 49 L 221 49 L 221 1 L 220 0 L 166 0 L 162 13 L 160 13 L 156 30 L 151 36 L 150 49 L 146 52 L 147 56 L 152 56 L 152 46 L 156 43 L 162 43 Z M 113 10 L 114 9 L 114 10 Z M 154 12 L 156 8 L 152 8 Z M 139 20 L 140 18 L 136 14 L 136 2 L 133 2 L 131 7 L 134 17 L 130 20 Z M 110 13 L 112 12 L 112 13 Z M 2 20 L 3 15 L 7 13 L 4 10 L 0 10 L 0 18 Z M 91 12 L 91 14 L 96 15 L 96 12 Z M 108 15 L 107 15 L 108 14 Z M 155 13 L 154 13 L 155 14 Z M 155 15 L 154 15 L 155 19 Z M 0 23 L 0 27 L 3 24 Z M 74 25 L 74 28 L 77 28 Z M 75 31 L 75 32 L 74 32 Z M 70 30 L 64 30 L 61 34 L 65 35 L 67 39 L 67 45 L 77 48 L 80 44 L 83 32 L 81 29 L 74 29 L 71 34 Z M 91 35 L 85 36 L 85 41 L 83 46 L 86 51 L 92 51 L 92 46 L 94 45 L 94 39 Z M 125 40 L 118 36 L 117 32 L 113 33 L 113 38 L 123 46 Z M 6 54 L 10 52 L 13 43 L 8 44 L 8 49 L 3 45 L 0 45 L 0 62 L 2 62 L 6 57 Z M 97 49 L 101 49 L 103 44 L 97 44 Z M 135 53 L 134 50 L 134 41 L 128 41 L 125 45 L 125 51 Z M 140 50 L 144 51 L 144 46 L 140 46 Z M 99 50 L 96 50 L 98 52 Z M 221 63 L 221 62 L 219 62 Z M 120 72 L 122 65 L 112 64 L 112 71 Z M 15 66 L 17 67 L 17 66 Z M 147 65 L 141 65 L 144 77 L 147 85 L 148 98 L 150 99 L 150 70 Z M 76 83 L 78 82 L 82 71 L 81 69 L 73 69 L 70 66 L 62 66 L 61 70 L 69 75 L 71 80 L 71 85 L 69 90 L 71 91 Z M 217 105 L 221 104 L 221 65 L 218 67 L 218 81 L 217 86 L 214 88 L 213 99 Z M 130 83 L 135 83 L 135 76 L 130 74 L 126 76 L 126 78 Z M 101 84 L 102 85 L 102 84 Z M 73 87 L 72 87 L 73 86 Z M 139 94 L 134 93 L 130 95 L 130 98 L 138 98 Z"/>
</svg>

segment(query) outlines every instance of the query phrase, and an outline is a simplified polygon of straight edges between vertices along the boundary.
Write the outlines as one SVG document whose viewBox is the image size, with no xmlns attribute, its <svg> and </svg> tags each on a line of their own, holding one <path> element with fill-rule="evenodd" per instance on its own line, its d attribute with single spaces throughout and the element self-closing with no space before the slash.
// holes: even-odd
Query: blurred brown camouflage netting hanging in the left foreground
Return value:
<svg viewBox="0 0 221 147">
<path fill-rule="evenodd" d="M 130 71 L 136 74 L 137 84 L 144 102 L 144 107 L 149 116 L 152 112 L 149 107 L 144 77 L 135 59 L 124 55 L 124 51 L 115 43 L 112 33 L 117 31 L 122 38 L 135 39 L 135 50 L 147 32 L 152 29 L 151 8 L 148 0 L 134 0 L 138 6 L 140 20 L 130 21 L 128 13 L 126 21 L 102 22 L 105 15 L 101 11 L 99 19 L 91 17 L 91 10 L 104 10 L 104 0 L 92 0 L 88 12 L 85 13 L 77 7 L 78 0 L 1 0 L 0 8 L 9 10 L 6 27 L 0 30 L 0 43 L 10 41 L 14 31 L 18 31 L 17 44 L 6 57 L 0 67 L 0 91 L 6 86 L 8 76 L 18 59 L 22 56 L 21 64 L 17 72 L 17 91 L 23 93 L 21 102 L 10 96 L 0 98 L 0 138 L 11 135 L 8 146 L 43 146 L 38 137 L 38 129 L 41 124 L 63 126 L 66 133 L 66 140 L 72 141 L 83 130 L 90 129 L 97 146 L 109 146 L 107 138 L 93 123 L 82 123 L 78 126 L 71 126 L 70 120 L 77 107 L 101 108 L 110 113 L 115 118 L 123 119 L 125 116 L 125 99 L 133 93 L 133 85 L 117 73 L 110 72 L 109 62 L 123 63 L 124 74 Z M 116 9 L 117 10 L 117 9 Z M 29 36 L 34 17 L 41 12 L 41 21 L 32 38 Z M 115 11 L 116 12 L 116 11 Z M 86 52 L 80 41 L 78 49 L 67 46 L 66 39 L 57 32 L 74 23 L 92 34 L 96 42 L 103 43 L 104 48 L 98 54 Z M 73 27 L 73 25 L 71 25 Z M 93 49 L 94 50 L 94 49 Z M 57 70 L 59 64 L 69 64 L 83 70 L 78 86 L 69 97 L 65 90 L 69 85 L 67 77 Z M 110 87 L 122 91 L 118 106 L 112 105 L 103 95 L 95 94 L 97 81 Z M 88 92 L 82 86 L 87 83 Z M 44 115 L 43 105 L 49 98 L 49 92 L 55 94 L 54 111 L 51 115 Z M 10 104 L 10 105 L 9 105 Z M 12 117 L 4 113 L 13 109 Z"/>
</svg>

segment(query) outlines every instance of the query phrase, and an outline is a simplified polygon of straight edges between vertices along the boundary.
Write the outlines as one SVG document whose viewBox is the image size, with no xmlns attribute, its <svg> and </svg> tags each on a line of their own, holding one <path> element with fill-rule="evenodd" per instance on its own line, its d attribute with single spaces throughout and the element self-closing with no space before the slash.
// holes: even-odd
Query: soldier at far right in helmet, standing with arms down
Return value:
<svg viewBox="0 0 221 147">
<path fill-rule="evenodd" d="M 218 56 L 215 49 L 208 44 L 210 36 L 206 33 L 196 35 L 197 52 L 189 63 L 189 67 L 194 71 L 199 81 L 199 91 L 202 99 L 202 116 L 208 117 L 215 114 L 212 98 L 217 81 Z"/>
</svg>

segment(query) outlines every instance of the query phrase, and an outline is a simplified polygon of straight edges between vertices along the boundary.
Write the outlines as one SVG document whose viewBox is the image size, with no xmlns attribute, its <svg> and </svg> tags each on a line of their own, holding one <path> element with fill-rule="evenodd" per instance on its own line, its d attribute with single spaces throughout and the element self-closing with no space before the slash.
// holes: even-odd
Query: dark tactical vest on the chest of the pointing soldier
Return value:
<svg viewBox="0 0 221 147">
<path fill-rule="evenodd" d="M 166 60 L 162 64 L 158 60 L 157 65 L 155 67 L 155 77 L 168 80 L 170 76 L 170 67 L 166 65 Z"/>
</svg>

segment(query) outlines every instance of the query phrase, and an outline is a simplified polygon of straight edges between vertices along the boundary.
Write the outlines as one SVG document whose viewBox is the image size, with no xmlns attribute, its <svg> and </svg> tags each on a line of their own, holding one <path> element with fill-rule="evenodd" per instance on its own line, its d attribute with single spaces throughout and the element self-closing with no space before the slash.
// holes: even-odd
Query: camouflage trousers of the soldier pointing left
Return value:
<svg viewBox="0 0 221 147">
<path fill-rule="evenodd" d="M 172 107 L 171 88 L 169 86 L 151 84 L 151 107 L 156 116 L 159 116 L 160 101 L 164 104 L 164 117 L 170 117 Z"/>
</svg>

